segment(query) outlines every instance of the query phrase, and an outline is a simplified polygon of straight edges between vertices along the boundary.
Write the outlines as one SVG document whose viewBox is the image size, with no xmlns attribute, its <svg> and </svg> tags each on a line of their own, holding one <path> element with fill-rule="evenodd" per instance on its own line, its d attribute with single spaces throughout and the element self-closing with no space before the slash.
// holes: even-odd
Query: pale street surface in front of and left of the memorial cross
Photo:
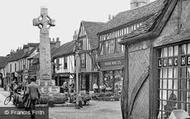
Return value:
<svg viewBox="0 0 190 119">
<path fill-rule="evenodd" d="M 0 107 L 12 107 L 12 102 L 4 105 L 8 91 L 0 88 Z M 50 107 L 51 119 L 121 119 L 120 101 L 91 101 L 81 109 L 75 107 Z"/>
</svg>

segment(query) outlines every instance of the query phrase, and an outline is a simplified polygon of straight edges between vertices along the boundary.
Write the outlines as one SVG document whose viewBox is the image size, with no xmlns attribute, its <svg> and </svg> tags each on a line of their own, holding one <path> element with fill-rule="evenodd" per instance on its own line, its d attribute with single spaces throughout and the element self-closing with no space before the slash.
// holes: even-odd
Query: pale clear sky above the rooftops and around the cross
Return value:
<svg viewBox="0 0 190 119">
<path fill-rule="evenodd" d="M 153 1 L 153 0 L 152 0 Z M 130 0 L 3 0 L 0 4 L 0 56 L 6 56 L 27 43 L 39 42 L 38 27 L 32 20 L 40 15 L 40 8 L 47 7 L 55 19 L 50 37 L 59 37 L 61 44 L 73 39 L 80 22 L 107 22 L 109 14 L 130 9 Z"/>
</svg>

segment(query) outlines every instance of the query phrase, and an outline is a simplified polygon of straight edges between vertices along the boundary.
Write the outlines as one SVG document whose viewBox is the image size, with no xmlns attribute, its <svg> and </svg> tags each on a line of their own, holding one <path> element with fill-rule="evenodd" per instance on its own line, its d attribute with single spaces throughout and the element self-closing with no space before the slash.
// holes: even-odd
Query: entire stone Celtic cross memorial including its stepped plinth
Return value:
<svg viewBox="0 0 190 119">
<path fill-rule="evenodd" d="M 54 22 L 48 16 L 47 8 L 41 8 L 40 16 L 33 19 L 33 25 L 40 29 L 40 79 L 37 79 L 37 83 L 41 86 L 41 93 L 48 95 L 59 93 L 59 87 L 55 86 L 51 72 L 49 29 L 55 26 Z"/>
</svg>

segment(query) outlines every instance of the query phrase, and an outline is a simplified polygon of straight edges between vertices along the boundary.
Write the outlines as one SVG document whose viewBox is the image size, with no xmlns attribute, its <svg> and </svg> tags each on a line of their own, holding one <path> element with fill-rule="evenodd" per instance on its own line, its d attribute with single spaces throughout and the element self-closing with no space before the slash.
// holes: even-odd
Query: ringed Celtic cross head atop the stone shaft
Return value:
<svg viewBox="0 0 190 119">
<path fill-rule="evenodd" d="M 41 8 L 38 18 L 33 19 L 33 25 L 38 26 L 42 33 L 48 33 L 51 26 L 55 26 L 55 20 L 48 16 L 48 9 Z"/>
</svg>

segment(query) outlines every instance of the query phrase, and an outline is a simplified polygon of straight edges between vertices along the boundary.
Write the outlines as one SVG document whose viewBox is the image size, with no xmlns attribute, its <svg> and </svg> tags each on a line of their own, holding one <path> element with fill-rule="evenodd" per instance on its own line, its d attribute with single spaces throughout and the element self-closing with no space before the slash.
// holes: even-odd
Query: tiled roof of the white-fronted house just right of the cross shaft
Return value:
<svg viewBox="0 0 190 119">
<path fill-rule="evenodd" d="M 59 48 L 53 51 L 52 58 L 55 59 L 57 57 L 62 57 L 74 53 L 74 46 L 75 46 L 74 40 L 61 45 Z"/>
</svg>

